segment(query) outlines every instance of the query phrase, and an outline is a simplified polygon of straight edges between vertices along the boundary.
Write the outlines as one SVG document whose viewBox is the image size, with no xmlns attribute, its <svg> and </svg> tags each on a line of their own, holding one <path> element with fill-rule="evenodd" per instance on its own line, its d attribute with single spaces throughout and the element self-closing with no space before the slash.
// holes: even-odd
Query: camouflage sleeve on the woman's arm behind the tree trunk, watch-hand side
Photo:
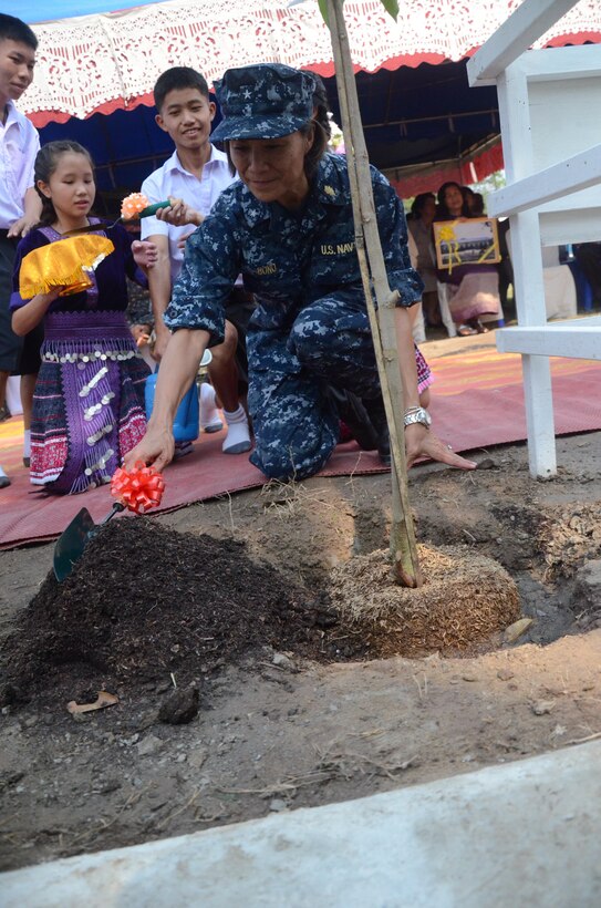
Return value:
<svg viewBox="0 0 601 908">
<path fill-rule="evenodd" d="M 374 167 L 372 186 L 380 241 L 391 290 L 398 290 L 401 299 L 397 306 L 414 306 L 422 300 L 424 282 L 411 264 L 403 203 L 386 177 Z"/>
</svg>

